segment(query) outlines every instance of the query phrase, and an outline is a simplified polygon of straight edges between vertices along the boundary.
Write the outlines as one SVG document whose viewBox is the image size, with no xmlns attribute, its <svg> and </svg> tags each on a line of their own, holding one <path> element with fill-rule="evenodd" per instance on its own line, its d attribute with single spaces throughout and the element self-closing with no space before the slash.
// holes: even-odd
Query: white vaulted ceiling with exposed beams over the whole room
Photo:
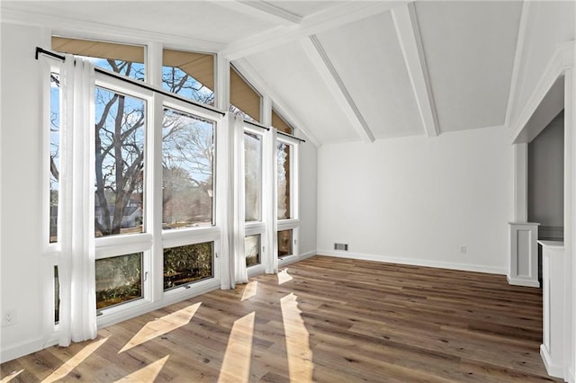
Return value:
<svg viewBox="0 0 576 383">
<path fill-rule="evenodd" d="M 1 6 L 5 21 L 72 37 L 219 53 L 317 145 L 503 126 L 522 12 L 518 1 Z"/>
</svg>

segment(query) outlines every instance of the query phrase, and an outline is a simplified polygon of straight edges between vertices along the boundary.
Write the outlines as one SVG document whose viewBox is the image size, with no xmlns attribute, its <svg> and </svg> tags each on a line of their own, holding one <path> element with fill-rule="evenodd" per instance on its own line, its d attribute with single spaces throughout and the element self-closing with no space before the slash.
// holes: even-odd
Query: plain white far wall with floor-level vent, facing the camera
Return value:
<svg viewBox="0 0 576 383">
<path fill-rule="evenodd" d="M 503 128 L 320 147 L 318 253 L 506 273 L 512 154 Z"/>
</svg>

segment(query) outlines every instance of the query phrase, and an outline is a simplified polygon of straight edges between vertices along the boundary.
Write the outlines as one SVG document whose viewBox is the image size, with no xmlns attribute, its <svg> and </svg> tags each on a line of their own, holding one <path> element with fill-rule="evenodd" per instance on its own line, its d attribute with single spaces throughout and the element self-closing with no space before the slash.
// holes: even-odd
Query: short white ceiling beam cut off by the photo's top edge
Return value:
<svg viewBox="0 0 576 383">
<path fill-rule="evenodd" d="M 257 17 L 260 20 L 276 25 L 289 26 L 302 22 L 302 17 L 298 14 L 288 12 L 275 4 L 264 1 L 211 0 L 211 3 L 228 8 L 231 11 Z"/>
</svg>

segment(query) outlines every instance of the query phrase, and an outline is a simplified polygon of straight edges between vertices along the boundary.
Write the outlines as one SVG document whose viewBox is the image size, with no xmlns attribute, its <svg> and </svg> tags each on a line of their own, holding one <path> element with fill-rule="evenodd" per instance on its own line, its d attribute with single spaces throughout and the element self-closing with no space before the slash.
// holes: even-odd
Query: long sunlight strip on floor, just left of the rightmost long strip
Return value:
<svg viewBox="0 0 576 383">
<path fill-rule="evenodd" d="M 240 383 L 249 380 L 255 318 L 256 312 L 253 311 L 234 322 L 222 361 L 219 383 Z"/>
</svg>

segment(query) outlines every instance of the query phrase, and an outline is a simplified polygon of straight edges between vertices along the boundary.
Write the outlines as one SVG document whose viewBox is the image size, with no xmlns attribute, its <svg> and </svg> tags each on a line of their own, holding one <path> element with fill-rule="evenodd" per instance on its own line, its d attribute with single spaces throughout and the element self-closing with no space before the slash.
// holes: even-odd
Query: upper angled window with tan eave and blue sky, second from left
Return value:
<svg viewBox="0 0 576 383">
<path fill-rule="evenodd" d="M 193 101 L 214 104 L 214 56 L 164 49 L 162 87 Z"/>
</svg>

